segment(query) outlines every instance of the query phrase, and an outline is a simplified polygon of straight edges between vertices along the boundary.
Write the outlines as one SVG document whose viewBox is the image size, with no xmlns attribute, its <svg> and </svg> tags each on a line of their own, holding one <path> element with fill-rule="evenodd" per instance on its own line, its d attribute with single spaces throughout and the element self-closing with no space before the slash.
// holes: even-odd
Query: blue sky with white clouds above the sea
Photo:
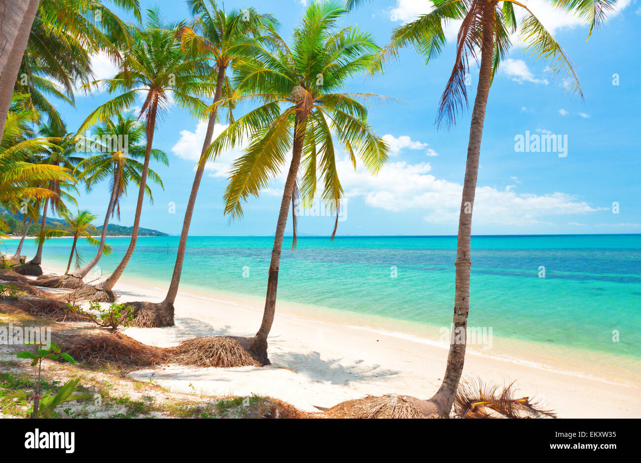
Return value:
<svg viewBox="0 0 641 463">
<path fill-rule="evenodd" d="M 542 0 L 528 2 L 574 63 L 585 100 L 565 92 L 563 78 L 547 71 L 545 62 L 537 62 L 518 45 L 512 48 L 490 90 L 472 233 L 641 231 L 641 5 L 635 2 L 620 2 L 617 12 L 587 42 L 588 28 L 583 22 L 554 12 Z M 260 12 L 273 13 L 281 22 L 281 35 L 290 37 L 304 3 L 224 1 L 224 8 L 254 6 Z M 144 8 L 159 6 L 171 21 L 188 18 L 181 1 L 141 0 L 141 4 Z M 426 0 L 375 0 L 347 15 L 344 23 L 370 31 L 383 46 L 393 28 L 428 12 L 429 4 Z M 470 111 L 463 112 L 450 131 L 435 128 L 438 99 L 454 61 L 456 28 L 447 33 L 447 49 L 428 66 L 407 50 L 399 62 L 388 65 L 384 75 L 367 80 L 358 76 L 345 87 L 401 102 L 369 106 L 370 124 L 392 148 L 390 162 L 377 177 L 369 176 L 361 166 L 354 171 L 341 155 L 339 174 L 346 199 L 338 235 L 456 234 Z M 95 62 L 98 77 L 113 75 L 109 62 L 99 57 Z M 470 69 L 471 107 L 478 67 Z M 614 74 L 619 85 L 613 85 Z M 89 112 L 108 98 L 108 94 L 97 92 L 78 95 L 76 108 L 60 103 L 69 130 L 76 130 Z M 516 151 L 515 137 L 525 136 L 526 131 L 534 137 L 553 134 L 567 140 L 563 153 Z M 141 226 L 170 234 L 180 232 L 203 137 L 203 124 L 175 106 L 160 121 L 154 147 L 168 153 L 170 165 L 152 165 L 165 190 L 154 187 L 155 201 L 144 206 Z M 274 233 L 282 178 L 275 179 L 259 199 L 247 203 L 242 221 L 230 224 L 222 214 L 226 174 L 239 152 L 223 153 L 220 160 L 208 165 L 190 234 Z M 129 189 L 120 224 L 133 223 L 136 198 L 137 190 Z M 83 190 L 79 206 L 103 217 L 107 201 L 105 184 L 89 194 Z M 618 214 L 613 213 L 615 202 Z M 175 203 L 175 214 L 169 213 L 169 203 Z M 332 228 L 332 217 L 315 212 L 300 217 L 300 233 L 329 235 Z"/>
</svg>

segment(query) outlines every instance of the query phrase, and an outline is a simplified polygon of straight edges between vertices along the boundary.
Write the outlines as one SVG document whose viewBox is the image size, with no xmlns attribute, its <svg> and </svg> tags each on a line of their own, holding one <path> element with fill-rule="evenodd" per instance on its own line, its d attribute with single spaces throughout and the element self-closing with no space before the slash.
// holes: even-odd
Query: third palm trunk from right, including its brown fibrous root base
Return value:
<svg viewBox="0 0 641 463">
<path fill-rule="evenodd" d="M 207 124 L 207 131 L 204 137 L 201 157 L 196 169 L 196 176 L 194 176 L 192 192 L 189 195 L 189 201 L 187 202 L 187 209 L 185 210 L 183 230 L 180 233 L 178 253 L 176 254 L 176 264 L 174 265 L 174 273 L 171 277 L 169 290 L 167 290 L 167 296 L 165 296 L 165 299 L 159 304 L 149 302 L 132 303 L 134 307 L 137 307 L 136 320 L 134 321 L 134 324 L 136 326 L 143 326 L 145 328 L 161 328 L 163 326 L 173 326 L 174 324 L 174 301 L 176 301 L 176 295 L 178 294 L 178 285 L 180 284 L 180 275 L 183 271 L 185 249 L 187 248 L 187 236 L 189 234 L 189 227 L 192 223 L 192 215 L 194 214 L 194 206 L 196 205 L 196 196 L 198 194 L 198 189 L 200 188 L 201 180 L 203 179 L 205 166 L 203 158 L 205 153 L 207 152 L 208 147 L 212 143 L 213 128 L 216 124 L 216 114 L 218 112 L 217 103 L 221 99 L 222 82 L 224 81 L 224 78 L 225 67 L 221 66 L 218 70 L 216 92 L 213 97 L 213 110 Z M 113 285 L 115 285 L 121 274 L 122 271 L 120 274 L 116 274 L 116 272 L 114 271 L 114 273 L 112 273 L 112 275 L 106 280 L 106 282 L 98 286 L 98 289 L 103 289 L 107 293 L 109 301 L 113 301 L 115 299 L 112 291 Z"/>
</svg>

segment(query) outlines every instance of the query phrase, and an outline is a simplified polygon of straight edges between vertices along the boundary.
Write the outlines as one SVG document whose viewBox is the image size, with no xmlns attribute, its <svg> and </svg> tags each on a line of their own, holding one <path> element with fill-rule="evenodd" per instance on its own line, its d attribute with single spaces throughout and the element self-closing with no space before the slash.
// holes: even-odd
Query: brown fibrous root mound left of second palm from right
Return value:
<svg viewBox="0 0 641 463">
<path fill-rule="evenodd" d="M 176 361 L 199 367 L 258 367 L 260 364 L 231 337 L 207 336 L 183 341 L 174 348 Z"/>
</svg>

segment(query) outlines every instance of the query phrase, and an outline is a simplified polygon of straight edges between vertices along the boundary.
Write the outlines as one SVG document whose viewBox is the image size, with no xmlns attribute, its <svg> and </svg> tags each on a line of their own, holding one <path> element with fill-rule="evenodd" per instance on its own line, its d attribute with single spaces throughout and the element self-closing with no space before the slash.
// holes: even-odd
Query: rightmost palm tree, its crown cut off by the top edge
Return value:
<svg viewBox="0 0 641 463">
<path fill-rule="evenodd" d="M 348 1 L 348 6 L 362 3 Z M 499 3 L 501 5 L 499 6 Z M 612 0 L 552 0 L 559 8 L 578 15 L 590 22 L 590 34 L 605 19 L 605 13 L 612 9 Z M 442 384 L 429 400 L 408 398 L 425 416 L 448 417 L 460 381 L 465 360 L 465 337 L 469 315 L 470 267 L 472 265 L 470 237 L 472 234 L 472 210 L 479 166 L 479 151 L 485 108 L 490 85 L 501 60 L 510 49 L 510 37 L 519 33 L 519 38 L 537 57 L 551 62 L 549 69 L 556 74 L 564 72 L 570 81 L 570 90 L 581 97 L 581 87 L 572 65 L 562 47 L 544 28 L 528 7 L 516 0 L 435 0 L 433 10 L 413 22 L 400 26 L 392 32 L 390 44 L 381 52 L 381 64 L 389 58 L 397 58 L 403 47 L 413 46 L 426 62 L 440 54 L 445 46 L 444 25 L 449 21 L 461 20 L 456 43 L 456 60 L 452 74 L 445 85 L 437 113 L 437 126 L 448 128 L 456 122 L 456 115 L 467 104 L 465 74 L 469 69 L 468 58 L 480 52 L 479 80 L 472 110 L 470 136 L 467 147 L 467 164 L 463 181 L 463 194 L 456 242 L 456 287 L 454 292 L 453 331 L 456 339 L 447 355 L 447 367 Z M 517 22 L 514 5 L 522 9 L 523 19 Z M 589 35 L 588 35 L 589 38 Z M 452 336 L 454 340 L 454 335 Z"/>
</svg>

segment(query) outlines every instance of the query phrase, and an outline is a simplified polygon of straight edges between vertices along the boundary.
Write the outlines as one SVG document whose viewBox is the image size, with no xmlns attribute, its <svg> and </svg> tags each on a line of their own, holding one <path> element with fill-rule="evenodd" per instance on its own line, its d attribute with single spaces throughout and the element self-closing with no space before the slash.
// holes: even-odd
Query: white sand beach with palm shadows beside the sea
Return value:
<svg viewBox="0 0 641 463">
<path fill-rule="evenodd" d="M 161 301 L 165 290 L 121 280 L 119 302 Z M 260 301 L 222 301 L 179 293 L 176 326 L 128 328 L 126 334 L 154 346 L 174 346 L 205 335 L 253 335 L 262 319 Z M 366 394 L 429 398 L 440 385 L 447 349 L 409 337 L 351 328 L 335 320 L 277 304 L 267 367 L 169 366 L 131 374 L 176 392 L 262 394 L 317 411 Z M 641 417 L 641 380 L 620 385 L 546 371 L 526 364 L 467 355 L 464 375 L 499 384 L 517 380 L 519 394 L 539 396 L 560 417 Z M 613 381 L 616 382 L 616 381 Z"/>
</svg>

